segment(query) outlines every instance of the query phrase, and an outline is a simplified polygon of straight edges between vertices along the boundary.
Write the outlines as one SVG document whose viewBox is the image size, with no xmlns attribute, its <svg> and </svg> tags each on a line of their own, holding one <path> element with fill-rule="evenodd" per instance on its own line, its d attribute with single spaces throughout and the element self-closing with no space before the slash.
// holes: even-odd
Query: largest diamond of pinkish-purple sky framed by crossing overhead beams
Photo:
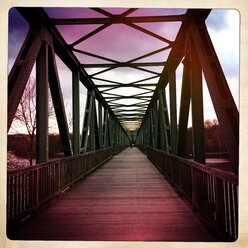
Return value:
<svg viewBox="0 0 248 248">
<path fill-rule="evenodd" d="M 125 62 L 167 45 L 124 24 L 114 24 L 76 48 Z"/>
</svg>

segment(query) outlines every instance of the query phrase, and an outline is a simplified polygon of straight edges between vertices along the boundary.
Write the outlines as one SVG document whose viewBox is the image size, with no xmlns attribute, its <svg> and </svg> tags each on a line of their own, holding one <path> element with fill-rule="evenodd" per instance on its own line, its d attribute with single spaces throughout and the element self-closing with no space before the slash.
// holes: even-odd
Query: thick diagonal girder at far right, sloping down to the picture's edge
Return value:
<svg viewBox="0 0 248 248">
<path fill-rule="evenodd" d="M 199 55 L 209 93 L 219 121 L 230 159 L 238 167 L 239 158 L 239 113 L 228 87 L 219 59 L 204 23 L 192 24 L 195 49 Z"/>
</svg>

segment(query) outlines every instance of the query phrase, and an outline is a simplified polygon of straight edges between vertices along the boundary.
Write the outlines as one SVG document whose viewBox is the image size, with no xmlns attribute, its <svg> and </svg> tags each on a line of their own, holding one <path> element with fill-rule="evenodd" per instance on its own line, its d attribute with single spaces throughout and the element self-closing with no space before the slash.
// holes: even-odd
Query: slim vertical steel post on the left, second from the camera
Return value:
<svg viewBox="0 0 248 248">
<path fill-rule="evenodd" d="M 79 71 L 72 73 L 72 102 L 73 102 L 73 154 L 80 153 L 80 90 Z"/>
</svg>

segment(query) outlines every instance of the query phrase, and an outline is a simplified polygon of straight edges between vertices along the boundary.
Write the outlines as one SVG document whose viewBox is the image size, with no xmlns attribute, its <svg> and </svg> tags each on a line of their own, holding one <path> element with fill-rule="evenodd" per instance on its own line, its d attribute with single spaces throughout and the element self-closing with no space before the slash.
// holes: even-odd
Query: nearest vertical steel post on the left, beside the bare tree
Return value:
<svg viewBox="0 0 248 248">
<path fill-rule="evenodd" d="M 48 161 L 48 45 L 41 46 L 36 61 L 36 163 Z"/>
</svg>

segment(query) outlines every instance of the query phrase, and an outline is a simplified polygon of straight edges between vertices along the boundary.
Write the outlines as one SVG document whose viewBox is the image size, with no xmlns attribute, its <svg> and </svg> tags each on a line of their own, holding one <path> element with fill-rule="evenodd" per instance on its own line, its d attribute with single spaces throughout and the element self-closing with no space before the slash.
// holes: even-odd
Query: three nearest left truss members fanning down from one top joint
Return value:
<svg viewBox="0 0 248 248">
<path fill-rule="evenodd" d="M 60 135 L 66 156 L 71 155 L 71 144 L 65 117 L 64 105 L 55 64 L 51 35 L 44 29 L 30 30 L 16 58 L 9 75 L 9 113 L 10 128 L 16 109 L 25 90 L 34 63 L 37 62 L 37 162 L 48 160 L 48 82 Z"/>
</svg>

